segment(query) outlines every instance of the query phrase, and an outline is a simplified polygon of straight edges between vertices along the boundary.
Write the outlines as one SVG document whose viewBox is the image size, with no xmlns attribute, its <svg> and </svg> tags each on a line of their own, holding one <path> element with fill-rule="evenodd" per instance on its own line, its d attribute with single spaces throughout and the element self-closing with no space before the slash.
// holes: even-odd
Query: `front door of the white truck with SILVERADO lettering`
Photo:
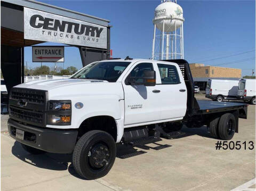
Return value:
<svg viewBox="0 0 256 191">
<path fill-rule="evenodd" d="M 153 63 L 139 62 L 124 77 L 143 77 L 143 71 L 154 70 Z M 142 82 L 138 79 L 136 82 Z M 158 85 L 156 85 L 158 86 Z M 125 103 L 125 125 L 157 121 L 160 118 L 161 106 L 159 94 L 154 93 L 156 86 L 129 85 L 123 81 Z"/>
</svg>

